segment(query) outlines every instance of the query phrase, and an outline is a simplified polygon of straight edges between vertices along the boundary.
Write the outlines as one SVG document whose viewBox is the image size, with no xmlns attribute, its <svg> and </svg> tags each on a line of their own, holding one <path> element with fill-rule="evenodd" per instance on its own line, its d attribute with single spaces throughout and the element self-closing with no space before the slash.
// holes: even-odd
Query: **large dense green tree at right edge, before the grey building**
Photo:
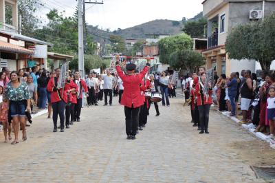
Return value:
<svg viewBox="0 0 275 183">
<path fill-rule="evenodd" d="M 275 60 L 275 13 L 263 21 L 238 25 L 228 35 L 225 49 L 229 58 L 259 61 L 262 69 L 270 70 Z"/>
</svg>

